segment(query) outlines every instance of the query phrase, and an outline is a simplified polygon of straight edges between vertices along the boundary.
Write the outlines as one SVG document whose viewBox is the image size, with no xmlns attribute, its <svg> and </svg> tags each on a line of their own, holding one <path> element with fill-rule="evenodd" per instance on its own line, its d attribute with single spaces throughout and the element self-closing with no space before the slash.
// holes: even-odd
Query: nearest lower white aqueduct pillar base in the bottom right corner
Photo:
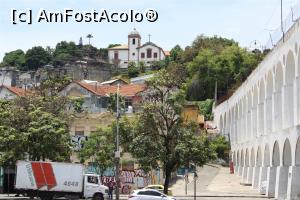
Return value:
<svg viewBox="0 0 300 200">
<path fill-rule="evenodd" d="M 289 167 L 287 199 L 300 199 L 300 166 Z"/>
</svg>

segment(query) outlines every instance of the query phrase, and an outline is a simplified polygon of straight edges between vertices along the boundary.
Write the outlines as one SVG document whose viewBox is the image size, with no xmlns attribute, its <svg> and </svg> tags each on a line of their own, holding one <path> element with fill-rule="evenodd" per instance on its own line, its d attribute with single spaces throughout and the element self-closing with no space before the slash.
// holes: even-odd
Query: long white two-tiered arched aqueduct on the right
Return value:
<svg viewBox="0 0 300 200">
<path fill-rule="evenodd" d="M 235 173 L 276 199 L 300 199 L 300 24 L 248 79 L 214 108 L 230 137 Z"/>
</svg>

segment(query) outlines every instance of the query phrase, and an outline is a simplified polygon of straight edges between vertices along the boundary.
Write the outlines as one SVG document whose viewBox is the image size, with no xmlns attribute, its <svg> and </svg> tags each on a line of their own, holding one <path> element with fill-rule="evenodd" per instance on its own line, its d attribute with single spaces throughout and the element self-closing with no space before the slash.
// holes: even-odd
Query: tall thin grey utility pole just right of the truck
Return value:
<svg viewBox="0 0 300 200">
<path fill-rule="evenodd" d="M 118 90 L 117 90 L 117 135 L 116 135 L 116 152 L 115 152 L 115 159 L 116 159 L 116 200 L 120 199 L 120 139 L 119 139 L 119 119 L 120 119 L 120 109 L 119 109 L 119 92 L 120 92 L 120 83 L 118 83 Z"/>
</svg>

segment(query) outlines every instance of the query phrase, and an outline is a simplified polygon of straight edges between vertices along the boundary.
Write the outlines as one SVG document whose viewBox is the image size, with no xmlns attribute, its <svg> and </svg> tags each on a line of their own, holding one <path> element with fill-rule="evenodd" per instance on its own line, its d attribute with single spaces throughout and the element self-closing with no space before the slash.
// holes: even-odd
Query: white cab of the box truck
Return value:
<svg viewBox="0 0 300 200">
<path fill-rule="evenodd" d="M 84 175 L 84 198 L 103 200 L 108 198 L 108 187 L 102 185 L 101 177 L 97 174 Z"/>
</svg>

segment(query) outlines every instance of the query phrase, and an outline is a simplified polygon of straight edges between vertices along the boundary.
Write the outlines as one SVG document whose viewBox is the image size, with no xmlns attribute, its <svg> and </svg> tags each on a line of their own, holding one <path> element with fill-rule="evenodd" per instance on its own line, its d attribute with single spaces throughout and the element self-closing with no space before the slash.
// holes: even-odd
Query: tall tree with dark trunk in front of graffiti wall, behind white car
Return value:
<svg viewBox="0 0 300 200">
<path fill-rule="evenodd" d="M 183 124 L 185 93 L 178 76 L 176 70 L 161 70 L 148 82 L 130 145 L 130 152 L 145 170 L 162 165 L 166 194 L 177 167 L 189 163 L 201 166 L 213 155 L 207 138 L 196 137 L 195 126 Z"/>
</svg>

